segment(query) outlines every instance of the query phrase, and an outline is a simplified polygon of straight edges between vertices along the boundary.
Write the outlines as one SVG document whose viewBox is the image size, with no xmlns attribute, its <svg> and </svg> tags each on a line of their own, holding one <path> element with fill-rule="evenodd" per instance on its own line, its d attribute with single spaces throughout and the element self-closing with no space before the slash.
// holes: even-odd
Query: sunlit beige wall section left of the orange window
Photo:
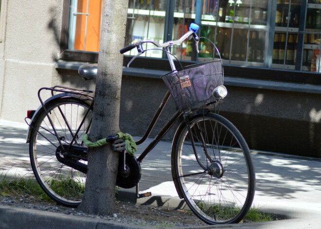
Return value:
<svg viewBox="0 0 321 229">
<path fill-rule="evenodd" d="M 0 119 L 24 122 L 58 76 L 63 0 L 1 0 Z"/>
</svg>

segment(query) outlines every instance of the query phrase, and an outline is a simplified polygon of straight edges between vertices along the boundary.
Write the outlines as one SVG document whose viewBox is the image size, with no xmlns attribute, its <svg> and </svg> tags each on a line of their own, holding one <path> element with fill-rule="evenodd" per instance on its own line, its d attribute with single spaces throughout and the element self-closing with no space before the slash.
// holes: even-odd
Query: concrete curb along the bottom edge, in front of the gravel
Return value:
<svg viewBox="0 0 321 229">
<path fill-rule="evenodd" d="M 286 222 L 285 222 L 286 221 Z M 225 224 L 208 225 L 196 227 L 176 227 L 175 229 L 289 229 L 295 225 L 302 225 L 298 219 L 259 222 L 250 224 Z M 304 224 L 306 225 L 306 224 Z M 27 210 L 22 208 L 0 206 L 0 228 L 1 229 L 151 229 L 151 227 L 140 225 L 128 225 L 125 223 L 107 222 L 102 219 L 92 219 L 62 213 Z"/>
</svg>

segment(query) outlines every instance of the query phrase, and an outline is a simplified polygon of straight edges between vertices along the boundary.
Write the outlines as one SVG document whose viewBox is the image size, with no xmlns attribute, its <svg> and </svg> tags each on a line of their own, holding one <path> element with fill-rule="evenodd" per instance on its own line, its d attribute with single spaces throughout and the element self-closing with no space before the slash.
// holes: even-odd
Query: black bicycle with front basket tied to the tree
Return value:
<svg viewBox="0 0 321 229">
<path fill-rule="evenodd" d="M 197 29 L 198 26 L 192 23 L 190 30 L 178 40 L 159 44 L 144 39 L 120 51 L 125 53 L 137 48 L 135 59 L 145 52 L 144 43 L 152 43 L 164 49 L 172 68 L 172 72 L 162 76 L 170 91 L 166 92 L 144 136 L 136 144 L 148 138 L 170 95 L 178 110 L 138 158 L 126 153 L 119 142 L 121 153 L 116 185 L 122 188 L 136 186 L 137 198 L 151 195 L 139 193 L 140 163 L 174 123 L 183 118 L 174 135 L 171 153 L 172 176 L 178 196 L 184 198 L 196 216 L 207 224 L 238 223 L 252 204 L 255 172 L 250 149 L 241 133 L 226 118 L 211 112 L 227 93 L 223 86 L 222 62 L 218 59 L 176 69 L 170 52 L 170 47 L 187 38 L 193 38 L 197 48 Z M 97 65 L 81 66 L 79 73 L 85 79 L 93 79 Z M 42 90 L 52 93 L 45 102 L 40 96 Z M 90 129 L 94 92 L 56 86 L 40 88 L 38 98 L 41 106 L 28 111 L 27 115 L 31 119 L 27 143 L 32 169 L 46 194 L 59 204 L 77 207 L 86 183 L 88 147 L 82 137 Z M 119 145 L 115 140 L 117 136 L 107 138 L 114 146 Z M 79 192 L 66 194 L 68 189 L 79 189 Z"/>
</svg>

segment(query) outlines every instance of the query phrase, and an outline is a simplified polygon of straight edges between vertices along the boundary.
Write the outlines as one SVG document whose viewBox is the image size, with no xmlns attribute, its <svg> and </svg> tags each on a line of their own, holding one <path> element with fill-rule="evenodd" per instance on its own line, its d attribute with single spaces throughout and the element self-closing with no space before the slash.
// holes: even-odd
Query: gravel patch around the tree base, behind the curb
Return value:
<svg viewBox="0 0 321 229">
<path fill-rule="evenodd" d="M 143 225 L 150 227 L 190 227 L 206 225 L 191 211 L 170 210 L 159 207 L 135 205 L 126 201 L 116 202 L 116 212 L 110 216 L 90 215 L 75 208 L 57 205 L 53 201 L 44 201 L 32 195 L 0 194 L 0 205 L 24 209 L 51 211 L 67 215 L 98 218 L 118 223 Z"/>
</svg>

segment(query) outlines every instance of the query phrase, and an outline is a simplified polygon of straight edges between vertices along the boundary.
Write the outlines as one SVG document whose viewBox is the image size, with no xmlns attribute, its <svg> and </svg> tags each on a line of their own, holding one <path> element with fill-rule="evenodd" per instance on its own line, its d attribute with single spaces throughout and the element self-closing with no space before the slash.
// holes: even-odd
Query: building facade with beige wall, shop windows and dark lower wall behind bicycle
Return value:
<svg viewBox="0 0 321 229">
<path fill-rule="evenodd" d="M 26 110 L 39 106 L 41 87 L 94 89 L 77 69 L 98 60 L 103 0 L 1 0 L 0 5 L 0 119 L 23 122 Z M 220 114 L 250 148 L 321 158 L 321 2 L 129 0 L 125 42 L 177 39 L 191 22 L 201 25 L 199 36 L 219 50 L 229 91 Z M 183 66 L 219 58 L 206 39 L 199 51 L 191 41 L 172 49 Z M 160 75 L 169 65 L 163 52 L 151 50 L 125 68 L 136 54 L 125 53 L 121 129 L 142 136 L 165 94 Z M 156 129 L 175 110 L 169 101 Z"/>
</svg>

